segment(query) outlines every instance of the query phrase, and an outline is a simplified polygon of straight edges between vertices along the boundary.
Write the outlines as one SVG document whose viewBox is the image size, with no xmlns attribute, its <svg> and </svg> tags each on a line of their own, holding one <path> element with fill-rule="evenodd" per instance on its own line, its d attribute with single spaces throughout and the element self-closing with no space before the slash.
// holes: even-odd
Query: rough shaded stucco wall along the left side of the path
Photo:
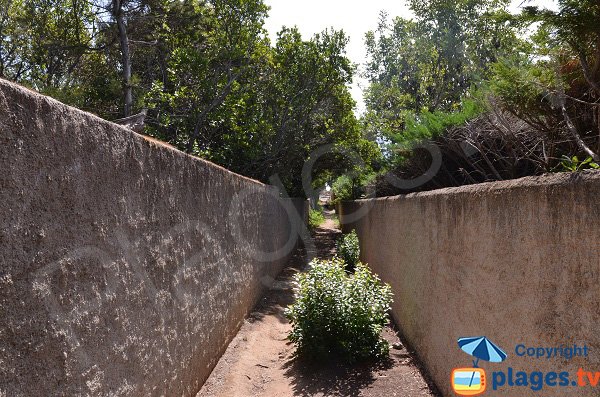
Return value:
<svg viewBox="0 0 600 397">
<path fill-rule="evenodd" d="M 273 188 L 2 80 L 0 189 L 0 396 L 195 395 L 296 243 Z"/>
</svg>

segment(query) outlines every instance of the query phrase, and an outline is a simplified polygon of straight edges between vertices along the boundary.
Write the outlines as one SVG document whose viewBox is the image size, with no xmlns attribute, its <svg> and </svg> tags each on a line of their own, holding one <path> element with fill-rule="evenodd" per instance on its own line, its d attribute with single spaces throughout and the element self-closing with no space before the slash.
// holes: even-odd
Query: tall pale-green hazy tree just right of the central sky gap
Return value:
<svg viewBox="0 0 600 397">
<path fill-rule="evenodd" d="M 414 20 L 382 14 L 367 33 L 367 115 L 389 138 L 407 115 L 455 111 L 490 67 L 514 48 L 504 0 L 412 0 Z M 418 116 L 417 116 L 418 117 Z"/>
</svg>

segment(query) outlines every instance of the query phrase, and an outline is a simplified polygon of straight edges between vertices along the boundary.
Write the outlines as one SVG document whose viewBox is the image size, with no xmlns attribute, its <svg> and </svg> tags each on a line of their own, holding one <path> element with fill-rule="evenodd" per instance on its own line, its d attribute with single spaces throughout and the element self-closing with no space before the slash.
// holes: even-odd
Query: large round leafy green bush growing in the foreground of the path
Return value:
<svg viewBox="0 0 600 397">
<path fill-rule="evenodd" d="M 356 361 L 388 353 L 381 331 L 392 292 L 368 267 L 358 263 L 354 274 L 347 274 L 339 258 L 315 260 L 295 281 L 296 300 L 286 315 L 297 355 Z"/>
</svg>

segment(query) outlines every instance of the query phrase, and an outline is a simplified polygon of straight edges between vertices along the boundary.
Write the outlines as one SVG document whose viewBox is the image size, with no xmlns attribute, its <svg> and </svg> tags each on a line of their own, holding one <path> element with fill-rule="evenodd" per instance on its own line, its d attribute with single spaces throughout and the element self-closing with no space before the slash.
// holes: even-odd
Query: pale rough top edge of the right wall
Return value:
<svg viewBox="0 0 600 397">
<path fill-rule="evenodd" d="M 403 200 L 417 199 L 437 196 L 454 195 L 480 195 L 483 193 L 502 192 L 507 190 L 527 189 L 540 186 L 568 186 L 580 183 L 600 183 L 600 170 L 585 170 L 580 172 L 561 172 L 548 173 L 539 176 L 526 176 L 518 179 L 509 179 L 505 181 L 483 182 L 471 185 L 447 187 L 442 189 L 428 190 L 425 192 L 399 194 L 395 196 L 377 197 L 371 199 L 360 199 L 347 202 L 363 201 L 385 201 L 385 200 Z"/>
</svg>

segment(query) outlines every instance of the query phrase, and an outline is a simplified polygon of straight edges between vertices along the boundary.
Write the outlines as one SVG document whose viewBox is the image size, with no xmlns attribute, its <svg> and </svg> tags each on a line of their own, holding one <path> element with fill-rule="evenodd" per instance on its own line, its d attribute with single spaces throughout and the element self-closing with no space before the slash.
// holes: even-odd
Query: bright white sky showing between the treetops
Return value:
<svg viewBox="0 0 600 397">
<path fill-rule="evenodd" d="M 518 11 L 522 2 L 513 0 L 511 9 Z M 381 10 L 386 10 L 390 18 L 412 16 L 403 0 L 266 0 L 266 3 L 271 7 L 266 28 L 272 41 L 275 41 L 282 26 L 297 26 L 305 39 L 326 28 L 343 29 L 350 38 L 347 56 L 359 65 L 364 63 L 366 57 L 363 38 L 366 32 L 377 27 Z M 556 8 L 555 0 L 531 0 L 527 4 Z M 366 81 L 357 76 L 354 78 L 351 91 L 357 102 L 357 113 L 364 110 L 362 89 L 365 86 Z"/>
</svg>

